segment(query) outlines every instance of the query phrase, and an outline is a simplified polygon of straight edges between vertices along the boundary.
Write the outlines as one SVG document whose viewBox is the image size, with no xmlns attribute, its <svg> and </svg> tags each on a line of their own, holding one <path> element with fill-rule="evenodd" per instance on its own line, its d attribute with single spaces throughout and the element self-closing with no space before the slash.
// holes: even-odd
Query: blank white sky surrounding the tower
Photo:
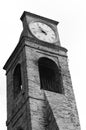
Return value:
<svg viewBox="0 0 86 130">
<path fill-rule="evenodd" d="M 86 0 L 3 0 L 0 2 L 0 130 L 6 130 L 6 77 L 2 69 L 18 43 L 20 16 L 32 12 L 59 21 L 61 45 L 69 68 L 81 129 L 86 129 Z"/>
</svg>

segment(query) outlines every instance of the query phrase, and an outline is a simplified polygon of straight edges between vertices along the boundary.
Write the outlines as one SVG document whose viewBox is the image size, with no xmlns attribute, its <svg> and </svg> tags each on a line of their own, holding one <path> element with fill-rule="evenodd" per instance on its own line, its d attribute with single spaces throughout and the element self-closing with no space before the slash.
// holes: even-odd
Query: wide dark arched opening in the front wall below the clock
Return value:
<svg viewBox="0 0 86 130">
<path fill-rule="evenodd" d="M 61 73 L 56 63 L 42 57 L 38 60 L 41 89 L 63 93 Z"/>
</svg>

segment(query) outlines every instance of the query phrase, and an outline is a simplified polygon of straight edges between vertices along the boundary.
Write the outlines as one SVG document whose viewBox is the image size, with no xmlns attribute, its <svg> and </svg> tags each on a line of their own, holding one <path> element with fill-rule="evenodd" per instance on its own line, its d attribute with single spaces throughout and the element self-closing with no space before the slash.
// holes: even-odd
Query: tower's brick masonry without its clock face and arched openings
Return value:
<svg viewBox="0 0 86 130">
<path fill-rule="evenodd" d="M 23 20 L 20 41 L 4 66 L 7 76 L 7 130 L 80 130 L 67 50 L 60 46 L 59 40 L 52 45 L 33 38 L 28 31 L 26 21 L 41 19 L 30 14 Z M 47 22 L 47 19 L 42 21 Z M 53 24 L 55 21 L 51 25 L 56 27 Z M 41 89 L 38 61 L 42 57 L 52 60 L 59 68 L 62 93 Z M 21 65 L 22 86 L 14 99 L 13 74 L 17 64 Z"/>
</svg>

